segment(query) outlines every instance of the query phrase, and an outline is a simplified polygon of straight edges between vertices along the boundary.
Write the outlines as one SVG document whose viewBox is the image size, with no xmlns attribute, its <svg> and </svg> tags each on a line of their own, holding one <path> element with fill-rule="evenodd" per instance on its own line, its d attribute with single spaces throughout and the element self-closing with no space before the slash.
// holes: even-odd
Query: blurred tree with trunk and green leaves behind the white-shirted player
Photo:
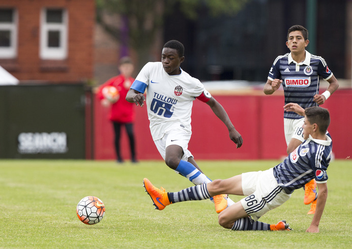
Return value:
<svg viewBox="0 0 352 249">
<path fill-rule="evenodd" d="M 187 18 L 196 19 L 201 10 L 210 15 L 236 14 L 250 0 L 96 0 L 97 20 L 115 38 L 122 42 L 123 49 L 132 47 L 143 66 L 148 59 L 155 36 L 163 25 L 166 15 L 175 7 Z M 104 20 L 103 14 L 117 14 L 121 23 L 116 25 Z M 126 53 L 122 51 L 122 55 Z"/>
</svg>

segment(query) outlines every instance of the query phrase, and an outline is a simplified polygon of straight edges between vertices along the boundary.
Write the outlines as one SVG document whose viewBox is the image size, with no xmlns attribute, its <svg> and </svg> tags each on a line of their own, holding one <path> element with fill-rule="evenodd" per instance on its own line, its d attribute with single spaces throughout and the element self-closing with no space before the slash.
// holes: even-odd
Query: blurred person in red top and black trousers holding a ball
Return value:
<svg viewBox="0 0 352 249">
<path fill-rule="evenodd" d="M 113 124 L 113 129 L 115 133 L 115 152 L 117 161 L 123 163 L 124 159 L 121 155 L 120 149 L 120 135 L 121 127 L 125 126 L 126 132 L 130 141 L 130 150 L 131 150 L 131 162 L 136 163 L 136 151 L 135 151 L 135 139 L 133 132 L 133 121 L 135 118 L 134 103 L 129 103 L 126 101 L 126 95 L 130 89 L 131 84 L 134 81 L 134 78 L 131 77 L 134 70 L 132 60 L 129 57 L 123 57 L 120 59 L 119 71 L 120 74 L 115 76 L 98 88 L 97 96 L 101 100 L 102 105 L 110 106 L 109 120 Z M 107 85 L 112 85 L 120 93 L 118 101 L 113 102 L 106 99 L 103 95 L 103 88 Z"/>
</svg>

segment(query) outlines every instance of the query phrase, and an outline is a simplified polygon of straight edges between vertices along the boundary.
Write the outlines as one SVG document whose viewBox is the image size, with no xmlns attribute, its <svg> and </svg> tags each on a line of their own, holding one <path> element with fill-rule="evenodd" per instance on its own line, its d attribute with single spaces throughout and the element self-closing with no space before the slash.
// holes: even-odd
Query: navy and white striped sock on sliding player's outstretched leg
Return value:
<svg viewBox="0 0 352 249">
<path fill-rule="evenodd" d="M 190 188 L 181 190 L 180 192 L 167 193 L 171 203 L 182 201 L 199 201 L 211 198 L 207 189 L 207 183 L 191 186 Z"/>
</svg>

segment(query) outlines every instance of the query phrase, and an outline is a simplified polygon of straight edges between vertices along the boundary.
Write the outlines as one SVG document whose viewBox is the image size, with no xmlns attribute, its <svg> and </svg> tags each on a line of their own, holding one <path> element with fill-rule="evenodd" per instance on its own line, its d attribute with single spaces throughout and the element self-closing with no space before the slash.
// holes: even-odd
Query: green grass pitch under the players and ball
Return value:
<svg viewBox="0 0 352 249">
<path fill-rule="evenodd" d="M 278 161 L 198 161 L 212 179 L 265 170 Z M 329 197 L 320 233 L 308 234 L 312 215 L 303 190 L 260 221 L 285 219 L 294 231 L 230 231 L 220 227 L 209 200 L 154 210 L 142 188 L 148 177 L 167 191 L 192 184 L 162 161 L 124 165 L 112 161 L 0 160 L 0 247 L 30 248 L 350 248 L 352 243 L 351 160 L 328 170 Z M 105 204 L 104 219 L 85 225 L 76 205 L 94 195 Z M 241 198 L 231 196 L 238 201 Z"/>
</svg>

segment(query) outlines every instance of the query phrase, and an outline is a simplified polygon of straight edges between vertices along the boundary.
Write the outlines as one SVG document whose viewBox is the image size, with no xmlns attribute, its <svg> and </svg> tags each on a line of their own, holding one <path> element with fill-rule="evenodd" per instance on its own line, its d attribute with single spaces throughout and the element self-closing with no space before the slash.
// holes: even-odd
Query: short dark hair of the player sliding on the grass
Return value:
<svg viewBox="0 0 352 249">
<path fill-rule="evenodd" d="M 321 134 L 325 134 L 327 132 L 330 124 L 330 113 L 327 109 L 312 106 L 306 108 L 304 113 L 311 124 L 316 123 L 318 125 Z"/>
</svg>

